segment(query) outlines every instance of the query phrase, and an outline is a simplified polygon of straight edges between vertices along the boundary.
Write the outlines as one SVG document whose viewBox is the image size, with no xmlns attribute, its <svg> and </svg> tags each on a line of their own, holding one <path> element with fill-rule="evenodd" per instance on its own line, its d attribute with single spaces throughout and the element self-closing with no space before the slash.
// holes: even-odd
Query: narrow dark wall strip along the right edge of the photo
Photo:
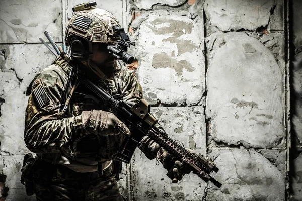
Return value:
<svg viewBox="0 0 302 201">
<path fill-rule="evenodd" d="M 295 49 L 302 45 L 302 2 L 292 1 L 291 33 L 291 113 L 292 143 L 290 155 L 290 200 L 302 200 L 302 55 L 295 55 Z"/>
</svg>

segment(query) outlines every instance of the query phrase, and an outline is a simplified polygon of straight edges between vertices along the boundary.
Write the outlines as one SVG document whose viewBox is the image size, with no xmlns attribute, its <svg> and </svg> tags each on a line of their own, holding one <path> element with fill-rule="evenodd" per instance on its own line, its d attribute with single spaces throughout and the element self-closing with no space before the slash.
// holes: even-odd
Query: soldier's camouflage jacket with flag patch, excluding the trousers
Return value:
<svg viewBox="0 0 302 201">
<path fill-rule="evenodd" d="M 97 171 L 99 162 L 102 163 L 103 170 L 108 170 L 112 168 L 112 160 L 123 136 L 85 135 L 82 111 L 107 110 L 98 104 L 93 94 L 88 94 L 79 84 L 70 100 L 66 117 L 57 118 L 70 69 L 70 65 L 58 56 L 51 66 L 34 78 L 25 114 L 26 146 L 42 159 L 65 165 L 77 172 Z M 142 88 L 136 76 L 124 66 L 113 79 L 92 81 L 112 95 L 120 93 L 129 105 L 142 98 Z M 74 81 L 67 86 L 67 94 L 72 84 Z M 159 149 L 159 145 L 146 136 L 138 147 L 149 159 L 155 158 Z"/>
</svg>

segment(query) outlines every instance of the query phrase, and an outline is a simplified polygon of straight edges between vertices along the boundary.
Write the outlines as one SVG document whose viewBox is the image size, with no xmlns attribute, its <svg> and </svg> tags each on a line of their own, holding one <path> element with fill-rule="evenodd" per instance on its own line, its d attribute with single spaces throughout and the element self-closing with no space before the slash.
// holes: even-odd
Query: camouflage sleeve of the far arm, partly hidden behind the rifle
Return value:
<svg viewBox="0 0 302 201">
<path fill-rule="evenodd" d="M 123 80 L 122 95 L 124 100 L 130 106 L 139 102 L 142 96 L 142 87 L 140 86 L 136 76 L 126 67 L 122 67 L 119 78 Z M 137 147 L 145 154 L 148 159 L 154 159 L 160 146 L 148 136 L 144 136 L 138 143 Z"/>
</svg>

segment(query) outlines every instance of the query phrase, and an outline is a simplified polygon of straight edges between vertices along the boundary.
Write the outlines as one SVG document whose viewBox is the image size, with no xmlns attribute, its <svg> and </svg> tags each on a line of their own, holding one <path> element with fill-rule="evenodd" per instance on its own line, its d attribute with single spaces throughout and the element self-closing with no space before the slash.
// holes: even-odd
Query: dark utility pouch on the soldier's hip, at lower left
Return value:
<svg viewBox="0 0 302 201">
<path fill-rule="evenodd" d="M 25 185 L 26 194 L 28 196 L 34 194 L 34 182 L 33 182 L 33 166 L 36 159 L 31 153 L 24 156 L 23 167 L 21 169 L 21 183 Z"/>
</svg>

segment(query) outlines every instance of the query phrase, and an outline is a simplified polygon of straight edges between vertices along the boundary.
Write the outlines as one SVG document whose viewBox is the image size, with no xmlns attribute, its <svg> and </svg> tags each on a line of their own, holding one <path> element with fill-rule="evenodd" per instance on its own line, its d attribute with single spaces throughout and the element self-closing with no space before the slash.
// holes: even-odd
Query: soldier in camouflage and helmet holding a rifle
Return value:
<svg viewBox="0 0 302 201">
<path fill-rule="evenodd" d="M 37 157 L 25 177 L 32 178 L 33 191 L 26 186 L 27 193 L 35 193 L 37 200 L 124 200 L 116 182 L 121 164 L 115 156 L 130 131 L 81 85 L 81 76 L 86 77 L 111 95 L 122 95 L 129 105 L 142 98 L 135 75 L 107 50 L 120 39 L 114 26 L 120 25 L 106 10 L 75 13 L 65 33 L 71 62 L 58 56 L 30 86 L 24 140 Z M 74 75 L 70 63 L 77 69 Z M 62 114 L 64 103 L 68 110 Z M 167 170 L 176 164 L 174 182 L 188 173 L 147 136 L 138 147 Z"/>
</svg>

